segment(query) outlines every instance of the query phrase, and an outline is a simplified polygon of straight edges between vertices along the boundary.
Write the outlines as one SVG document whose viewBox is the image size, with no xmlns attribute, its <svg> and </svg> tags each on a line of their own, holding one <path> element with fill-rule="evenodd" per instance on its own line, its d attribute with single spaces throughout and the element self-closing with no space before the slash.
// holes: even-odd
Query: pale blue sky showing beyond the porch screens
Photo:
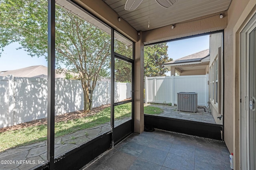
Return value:
<svg viewBox="0 0 256 170">
<path fill-rule="evenodd" d="M 182 39 L 171 41 L 168 45 L 168 57 L 173 60 L 197 53 L 209 48 L 209 35 L 194 37 L 190 39 Z M 47 61 L 44 57 L 30 57 L 19 43 L 12 43 L 4 48 L 0 57 L 0 71 L 15 70 L 28 66 L 44 65 Z"/>
</svg>

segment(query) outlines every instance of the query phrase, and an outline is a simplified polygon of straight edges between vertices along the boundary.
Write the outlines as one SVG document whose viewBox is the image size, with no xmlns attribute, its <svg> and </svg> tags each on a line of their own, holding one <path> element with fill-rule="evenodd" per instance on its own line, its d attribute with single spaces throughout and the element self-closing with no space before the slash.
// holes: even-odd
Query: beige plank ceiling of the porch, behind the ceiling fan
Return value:
<svg viewBox="0 0 256 170">
<path fill-rule="evenodd" d="M 128 11 L 124 10 L 126 0 L 103 1 L 137 31 L 156 29 L 207 15 L 219 15 L 228 10 L 231 3 L 231 0 L 178 0 L 170 8 L 163 8 L 155 0 L 143 0 L 136 10 Z"/>
</svg>

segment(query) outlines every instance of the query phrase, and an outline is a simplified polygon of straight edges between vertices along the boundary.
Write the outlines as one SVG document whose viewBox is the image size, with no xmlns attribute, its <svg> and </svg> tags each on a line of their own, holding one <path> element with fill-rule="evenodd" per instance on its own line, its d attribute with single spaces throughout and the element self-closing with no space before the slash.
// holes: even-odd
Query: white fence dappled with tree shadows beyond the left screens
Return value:
<svg viewBox="0 0 256 170">
<path fill-rule="evenodd" d="M 92 107 L 110 104 L 110 82 L 97 82 Z M 131 98 L 130 83 L 115 83 L 115 101 Z M 47 117 L 47 78 L 0 76 L 0 128 Z M 80 80 L 55 80 L 55 115 L 84 108 Z"/>
</svg>

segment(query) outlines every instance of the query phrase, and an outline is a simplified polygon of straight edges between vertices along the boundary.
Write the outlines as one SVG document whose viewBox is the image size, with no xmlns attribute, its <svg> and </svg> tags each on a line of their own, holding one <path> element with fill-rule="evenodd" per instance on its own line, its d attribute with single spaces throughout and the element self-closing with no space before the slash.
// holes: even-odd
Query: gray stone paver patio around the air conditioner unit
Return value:
<svg viewBox="0 0 256 170">
<path fill-rule="evenodd" d="M 178 111 L 177 106 L 168 106 L 160 104 L 147 104 L 146 106 L 154 106 L 163 109 L 164 112 L 159 114 L 158 116 L 216 124 L 214 118 L 212 117 L 212 114 L 207 108 L 206 111 L 204 111 L 204 108 L 198 108 L 198 111 L 196 113 L 193 113 Z"/>
</svg>

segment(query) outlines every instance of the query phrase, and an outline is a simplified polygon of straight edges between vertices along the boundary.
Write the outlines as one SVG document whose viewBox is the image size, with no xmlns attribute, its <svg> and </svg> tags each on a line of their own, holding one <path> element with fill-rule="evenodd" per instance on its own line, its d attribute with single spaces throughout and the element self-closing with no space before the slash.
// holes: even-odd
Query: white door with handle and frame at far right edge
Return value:
<svg viewBox="0 0 256 170">
<path fill-rule="evenodd" d="M 256 15 L 241 33 L 241 169 L 256 170 Z"/>
</svg>

